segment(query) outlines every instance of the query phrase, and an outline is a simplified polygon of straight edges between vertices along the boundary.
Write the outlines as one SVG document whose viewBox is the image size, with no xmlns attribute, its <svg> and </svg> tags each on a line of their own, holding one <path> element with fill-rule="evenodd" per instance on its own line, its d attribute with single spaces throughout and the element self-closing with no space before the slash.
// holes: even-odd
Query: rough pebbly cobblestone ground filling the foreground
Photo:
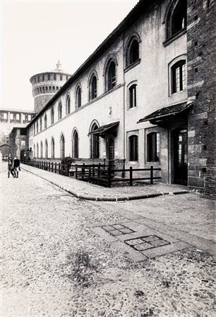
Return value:
<svg viewBox="0 0 216 317">
<path fill-rule="evenodd" d="M 4 168 L 1 178 L 2 317 L 215 316 L 209 254 L 188 247 L 131 261 L 90 228 L 124 223 L 114 205 L 80 201 L 25 171 L 8 179 Z"/>
</svg>

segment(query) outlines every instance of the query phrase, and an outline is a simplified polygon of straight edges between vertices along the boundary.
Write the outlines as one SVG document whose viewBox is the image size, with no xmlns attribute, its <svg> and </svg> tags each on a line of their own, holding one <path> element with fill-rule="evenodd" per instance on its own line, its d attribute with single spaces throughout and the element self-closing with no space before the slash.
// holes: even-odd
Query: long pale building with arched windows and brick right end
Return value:
<svg viewBox="0 0 216 317">
<path fill-rule="evenodd" d="M 28 124 L 31 159 L 161 168 L 215 197 L 215 0 L 140 0 Z"/>
</svg>

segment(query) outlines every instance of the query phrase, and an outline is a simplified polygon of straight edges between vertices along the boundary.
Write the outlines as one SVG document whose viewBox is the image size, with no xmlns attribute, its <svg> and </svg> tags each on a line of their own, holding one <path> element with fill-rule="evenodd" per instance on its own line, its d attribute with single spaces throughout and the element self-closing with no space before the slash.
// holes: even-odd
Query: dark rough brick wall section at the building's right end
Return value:
<svg viewBox="0 0 216 317">
<path fill-rule="evenodd" d="M 188 0 L 188 187 L 216 198 L 215 0 Z"/>
</svg>

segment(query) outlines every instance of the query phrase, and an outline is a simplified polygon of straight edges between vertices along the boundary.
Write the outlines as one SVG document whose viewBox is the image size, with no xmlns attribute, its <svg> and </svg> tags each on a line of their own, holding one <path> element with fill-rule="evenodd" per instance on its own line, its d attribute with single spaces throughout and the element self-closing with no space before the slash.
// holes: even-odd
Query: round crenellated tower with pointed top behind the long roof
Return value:
<svg viewBox="0 0 216 317">
<path fill-rule="evenodd" d="M 71 77 L 70 74 L 61 70 L 59 61 L 56 63 L 55 70 L 30 77 L 32 96 L 35 99 L 35 112 L 39 112 L 52 99 L 54 94 L 64 85 L 69 77 Z"/>
</svg>

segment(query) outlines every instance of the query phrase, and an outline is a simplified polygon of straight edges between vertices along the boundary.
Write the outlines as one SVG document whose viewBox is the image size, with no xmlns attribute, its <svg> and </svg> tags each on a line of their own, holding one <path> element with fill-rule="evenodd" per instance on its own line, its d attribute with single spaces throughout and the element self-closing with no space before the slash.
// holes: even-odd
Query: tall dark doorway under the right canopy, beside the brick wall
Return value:
<svg viewBox="0 0 216 317">
<path fill-rule="evenodd" d="M 174 132 L 174 183 L 188 184 L 188 130 Z"/>
</svg>

